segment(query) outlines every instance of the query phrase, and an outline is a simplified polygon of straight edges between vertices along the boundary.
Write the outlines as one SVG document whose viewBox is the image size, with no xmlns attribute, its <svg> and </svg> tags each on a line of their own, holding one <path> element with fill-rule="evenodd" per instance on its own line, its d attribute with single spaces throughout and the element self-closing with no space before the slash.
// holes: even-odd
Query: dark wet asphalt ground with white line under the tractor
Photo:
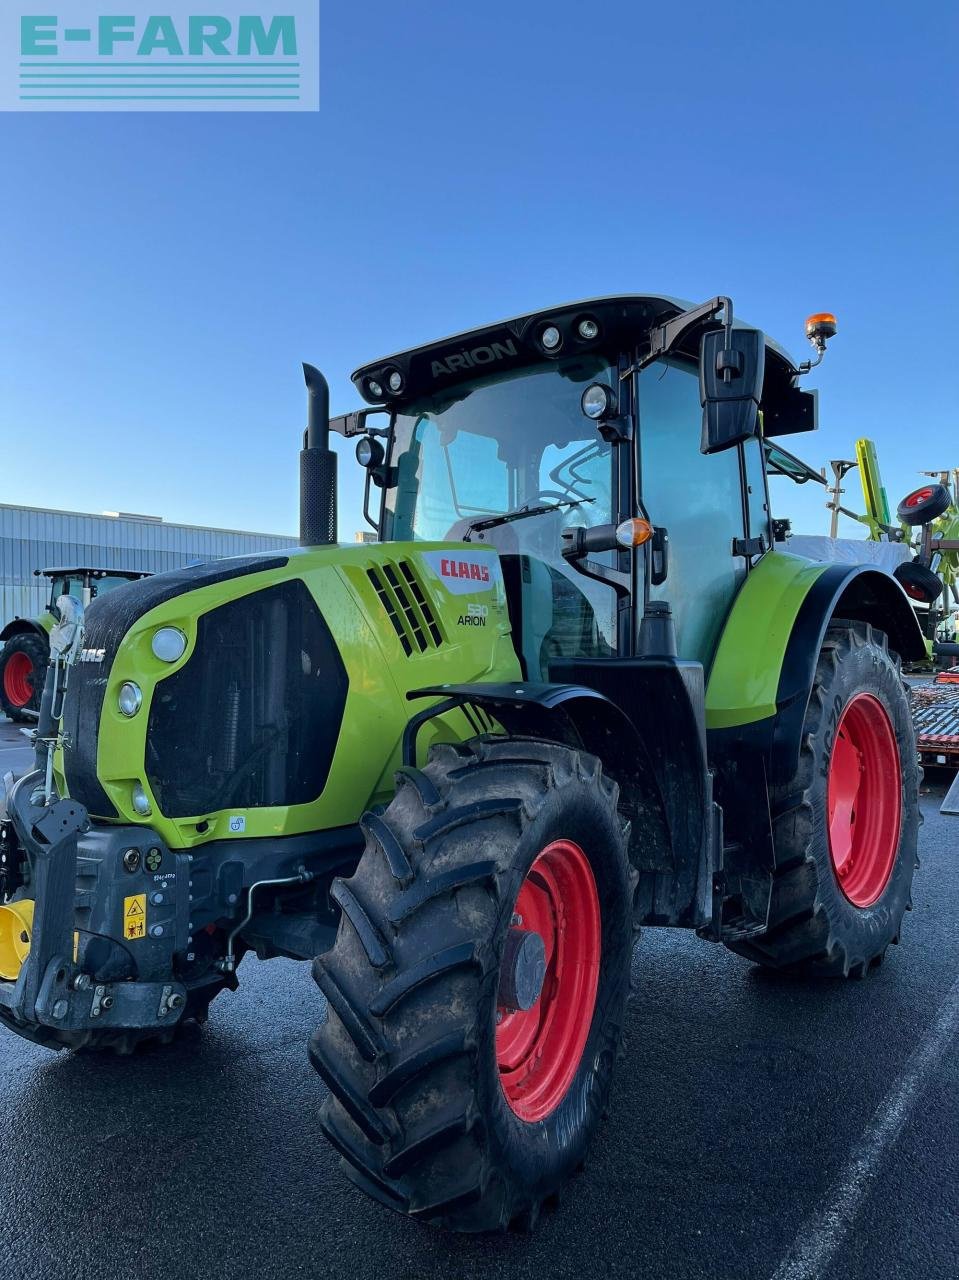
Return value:
<svg viewBox="0 0 959 1280">
<path fill-rule="evenodd" d="M 15 758 L 19 756 L 19 760 Z M 0 722 L 0 773 L 28 759 Z M 531 1236 L 367 1201 L 319 1133 L 306 965 L 246 959 L 202 1032 L 132 1059 L 0 1038 L 9 1277 L 959 1275 L 959 819 L 927 780 L 915 909 L 862 982 L 681 932 L 634 960 L 612 1111 Z"/>
</svg>

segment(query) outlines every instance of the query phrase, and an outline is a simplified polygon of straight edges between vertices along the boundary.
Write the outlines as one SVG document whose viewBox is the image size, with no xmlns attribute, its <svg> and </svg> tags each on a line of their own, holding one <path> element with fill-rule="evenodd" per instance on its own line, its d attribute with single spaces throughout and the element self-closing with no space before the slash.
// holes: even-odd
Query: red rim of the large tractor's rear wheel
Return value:
<svg viewBox="0 0 959 1280">
<path fill-rule="evenodd" d="M 854 906 L 872 906 L 892 874 L 903 778 L 889 712 L 857 694 L 840 716 L 827 778 L 830 856 Z"/>
</svg>

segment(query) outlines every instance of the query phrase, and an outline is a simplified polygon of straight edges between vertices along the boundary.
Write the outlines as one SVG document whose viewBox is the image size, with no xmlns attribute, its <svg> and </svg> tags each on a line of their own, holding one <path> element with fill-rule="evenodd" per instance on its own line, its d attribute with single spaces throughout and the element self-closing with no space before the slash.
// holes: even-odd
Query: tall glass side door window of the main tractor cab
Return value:
<svg viewBox="0 0 959 1280">
<path fill-rule="evenodd" d="M 739 449 L 700 453 L 703 410 L 694 369 L 657 361 L 639 376 L 640 489 L 649 518 L 670 534 L 670 571 L 654 599 L 667 599 L 681 658 L 708 667 L 745 561 Z"/>
</svg>

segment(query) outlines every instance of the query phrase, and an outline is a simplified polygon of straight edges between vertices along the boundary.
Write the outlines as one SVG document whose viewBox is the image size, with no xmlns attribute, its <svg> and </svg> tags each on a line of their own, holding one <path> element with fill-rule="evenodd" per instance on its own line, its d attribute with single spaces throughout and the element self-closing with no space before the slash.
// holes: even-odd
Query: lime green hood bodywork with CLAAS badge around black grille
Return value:
<svg viewBox="0 0 959 1280">
<path fill-rule="evenodd" d="M 149 826 L 172 847 L 232 835 L 286 836 L 348 826 L 370 804 L 392 795 L 403 728 L 414 709 L 408 691 L 438 684 L 520 678 L 499 559 L 490 548 L 357 544 L 292 549 L 279 564 L 270 557 L 264 562 L 270 566 L 264 572 L 247 571 L 196 589 L 184 584 L 181 594 L 132 622 L 109 664 L 97 668 L 85 663 L 78 668 L 81 680 L 105 682 L 99 726 L 79 726 L 83 733 L 99 728 L 96 776 L 115 809 L 115 815 L 97 817 Z M 307 804 L 289 806 L 224 809 L 188 818 L 163 815 L 145 765 L 154 696 L 164 680 L 189 663 L 201 616 L 292 579 L 303 584 L 323 614 L 348 682 L 321 794 Z M 156 589 L 159 577 L 149 581 Z M 131 599 L 137 586 L 122 590 Z M 151 649 L 151 637 L 161 626 L 177 627 L 187 637 L 183 657 L 172 664 L 157 659 Z M 204 654 L 202 660 L 215 662 L 215 655 Z M 131 718 L 118 709 L 124 681 L 134 681 L 143 696 L 141 712 Z M 415 709 L 424 705 L 417 701 Z M 196 731 L 210 732 L 215 745 L 215 727 L 197 724 Z M 318 724 L 315 731 L 321 735 L 332 727 Z M 452 712 L 430 722 L 420 735 L 420 749 L 425 753 L 431 741 L 472 733 L 462 713 Z M 132 806 L 137 782 L 152 803 L 147 818 L 137 815 Z"/>
</svg>

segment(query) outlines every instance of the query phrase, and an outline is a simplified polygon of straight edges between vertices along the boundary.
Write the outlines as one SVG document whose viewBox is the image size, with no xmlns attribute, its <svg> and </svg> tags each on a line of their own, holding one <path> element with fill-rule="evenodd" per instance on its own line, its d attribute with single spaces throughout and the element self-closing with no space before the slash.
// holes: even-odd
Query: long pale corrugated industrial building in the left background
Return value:
<svg viewBox="0 0 959 1280">
<path fill-rule="evenodd" d="M 0 503 L 0 626 L 36 617 L 50 594 L 37 568 L 129 568 L 159 573 L 223 556 L 296 545 L 291 534 L 168 525 L 159 516 L 91 515 Z"/>
</svg>

